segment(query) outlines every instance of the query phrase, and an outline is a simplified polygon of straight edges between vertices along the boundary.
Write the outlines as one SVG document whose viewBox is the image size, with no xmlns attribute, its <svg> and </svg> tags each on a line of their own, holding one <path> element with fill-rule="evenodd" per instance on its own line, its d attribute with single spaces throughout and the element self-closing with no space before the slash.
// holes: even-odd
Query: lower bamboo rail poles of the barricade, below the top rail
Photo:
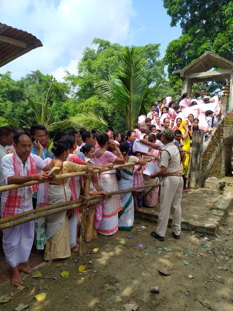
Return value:
<svg viewBox="0 0 233 311">
<path fill-rule="evenodd" d="M 118 191 L 114 191 L 114 192 L 109 192 L 107 197 L 105 197 L 102 194 L 96 194 L 96 195 L 89 197 L 89 203 L 93 204 L 93 203 L 101 202 L 103 200 L 110 199 L 112 197 L 112 195 L 115 195 L 115 194 L 132 192 L 134 190 L 138 190 L 141 188 L 156 187 L 156 186 L 159 186 L 160 184 L 161 183 L 155 183 L 155 184 L 149 184 L 147 186 L 139 186 L 139 187 L 135 187 L 135 188 L 130 188 L 127 190 L 118 190 Z M 65 207 L 65 208 L 63 208 L 63 207 Z M 0 230 L 6 229 L 6 228 L 11 228 L 11 227 L 14 227 L 16 225 L 21 225 L 25 222 L 35 220 L 35 219 L 39 219 L 39 218 L 42 218 L 42 217 L 45 217 L 48 215 L 56 214 L 56 213 L 61 212 L 61 211 L 71 210 L 71 209 L 74 209 L 76 207 L 80 207 L 82 209 L 86 207 L 86 206 L 83 206 L 83 197 L 78 199 L 78 200 L 61 202 L 61 203 L 57 203 L 57 204 L 51 204 L 48 206 L 39 207 L 37 209 L 26 211 L 26 212 L 23 212 L 21 214 L 2 218 L 2 219 L 0 219 Z M 6 226 L 6 224 L 8 224 L 8 225 Z"/>
</svg>

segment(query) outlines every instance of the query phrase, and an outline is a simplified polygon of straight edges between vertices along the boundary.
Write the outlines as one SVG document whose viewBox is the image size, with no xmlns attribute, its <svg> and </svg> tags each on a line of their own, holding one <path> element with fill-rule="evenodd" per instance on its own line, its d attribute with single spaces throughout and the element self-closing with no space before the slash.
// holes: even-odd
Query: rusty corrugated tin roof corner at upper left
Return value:
<svg viewBox="0 0 233 311">
<path fill-rule="evenodd" d="M 34 35 L 0 23 L 0 67 L 41 46 Z"/>
</svg>

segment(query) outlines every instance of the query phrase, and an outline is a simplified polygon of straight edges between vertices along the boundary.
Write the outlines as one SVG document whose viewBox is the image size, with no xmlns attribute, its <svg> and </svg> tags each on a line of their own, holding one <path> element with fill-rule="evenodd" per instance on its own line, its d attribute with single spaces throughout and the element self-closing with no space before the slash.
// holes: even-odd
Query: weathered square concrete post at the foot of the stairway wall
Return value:
<svg viewBox="0 0 233 311">
<path fill-rule="evenodd" d="M 193 132 L 189 188 L 200 188 L 204 132 Z"/>
</svg>

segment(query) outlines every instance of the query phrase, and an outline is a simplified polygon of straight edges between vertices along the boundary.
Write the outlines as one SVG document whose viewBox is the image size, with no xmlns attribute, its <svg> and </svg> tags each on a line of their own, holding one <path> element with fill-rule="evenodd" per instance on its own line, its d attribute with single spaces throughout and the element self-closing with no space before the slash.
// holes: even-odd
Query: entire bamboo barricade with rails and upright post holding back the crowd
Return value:
<svg viewBox="0 0 233 311">
<path fill-rule="evenodd" d="M 145 159 L 145 162 L 151 162 L 153 160 L 154 160 L 154 158 L 152 157 L 151 159 Z M 134 163 L 134 162 L 126 163 L 126 164 L 118 164 L 118 165 L 114 165 L 112 169 L 124 168 L 124 167 L 132 166 L 135 164 L 136 163 Z M 111 168 L 105 168 L 104 169 L 104 171 L 108 171 L 108 170 L 111 170 Z M 130 188 L 127 190 L 121 190 L 121 191 L 118 190 L 118 191 L 108 193 L 107 197 L 105 197 L 103 195 L 99 195 L 99 194 L 96 194 L 96 195 L 89 197 L 89 188 L 90 188 L 91 176 L 92 176 L 92 174 L 99 173 L 99 172 L 100 172 L 100 170 L 98 170 L 98 169 L 93 170 L 92 168 L 88 168 L 87 171 L 57 175 L 57 179 L 66 179 L 66 178 L 74 177 L 74 176 L 88 175 L 84 197 L 80 197 L 80 199 L 74 200 L 74 201 L 61 202 L 61 203 L 52 204 L 49 206 L 39 207 L 37 209 L 26 211 L 26 212 L 16 214 L 16 215 L 13 215 L 10 217 L 2 218 L 2 219 L 0 219 L 0 230 L 11 228 L 13 226 L 20 225 L 20 224 L 23 224 L 25 222 L 29 222 L 31 220 L 35 220 L 35 219 L 38 219 L 41 217 L 56 214 L 56 213 L 61 212 L 61 211 L 67 211 L 70 209 L 74 209 L 76 207 L 81 207 L 83 209 L 83 213 L 82 213 L 82 221 L 81 221 L 81 226 L 80 226 L 79 256 L 82 256 L 83 255 L 84 232 L 85 232 L 85 219 L 86 219 L 86 212 L 87 212 L 87 208 L 88 208 L 89 204 L 104 201 L 104 200 L 112 197 L 112 195 L 132 192 L 132 191 L 140 189 L 140 188 L 155 187 L 155 186 L 159 186 L 161 184 L 161 183 L 156 183 L 156 184 L 150 184 L 150 185 L 142 186 L 142 187 Z M 34 184 L 39 184 L 39 183 L 40 182 L 33 182 L 32 181 L 32 182 L 22 183 L 20 185 L 12 184 L 12 185 L 7 185 L 7 186 L 2 186 L 2 187 L 0 187 L 0 192 L 5 192 L 5 191 L 13 190 L 13 189 L 28 187 L 28 186 L 31 186 Z"/>
</svg>

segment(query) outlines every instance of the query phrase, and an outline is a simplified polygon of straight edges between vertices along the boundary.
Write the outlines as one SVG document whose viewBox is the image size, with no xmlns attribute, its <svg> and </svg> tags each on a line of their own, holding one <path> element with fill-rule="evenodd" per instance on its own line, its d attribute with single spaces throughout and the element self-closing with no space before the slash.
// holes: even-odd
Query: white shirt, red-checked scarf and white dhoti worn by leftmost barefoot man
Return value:
<svg viewBox="0 0 233 311">
<path fill-rule="evenodd" d="M 43 169 L 46 166 L 43 160 L 36 155 L 30 154 L 25 166 L 16 151 L 2 158 L 0 169 L 2 169 L 3 186 L 6 186 L 10 176 L 28 176 L 37 174 L 36 167 Z M 20 214 L 33 209 L 32 194 L 36 188 L 32 186 L 19 188 L 2 193 L 1 217 Z M 36 192 L 38 191 L 38 187 Z M 3 231 L 3 250 L 6 261 L 11 267 L 16 267 L 21 262 L 27 262 L 34 241 L 34 220 L 17 225 Z"/>
</svg>

